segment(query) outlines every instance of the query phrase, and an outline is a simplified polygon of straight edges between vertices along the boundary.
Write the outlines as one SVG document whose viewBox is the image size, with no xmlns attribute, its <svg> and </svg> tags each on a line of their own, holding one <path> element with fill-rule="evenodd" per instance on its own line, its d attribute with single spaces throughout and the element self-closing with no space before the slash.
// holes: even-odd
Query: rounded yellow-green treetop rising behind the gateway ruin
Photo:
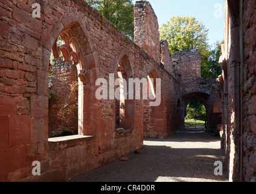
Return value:
<svg viewBox="0 0 256 194">
<path fill-rule="evenodd" d="M 160 39 L 169 42 L 170 53 L 186 49 L 199 49 L 203 56 L 209 55 L 208 30 L 201 21 L 192 16 L 173 16 L 160 27 Z"/>
</svg>

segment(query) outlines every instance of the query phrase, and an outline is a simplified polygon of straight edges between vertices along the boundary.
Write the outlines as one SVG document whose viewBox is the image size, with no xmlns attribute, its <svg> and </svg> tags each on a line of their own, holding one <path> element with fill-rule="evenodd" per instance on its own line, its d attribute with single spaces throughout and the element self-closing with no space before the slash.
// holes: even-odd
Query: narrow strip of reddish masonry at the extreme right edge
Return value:
<svg viewBox="0 0 256 194">
<path fill-rule="evenodd" d="M 256 179 L 256 3 L 244 1 L 243 176 Z"/>
</svg>

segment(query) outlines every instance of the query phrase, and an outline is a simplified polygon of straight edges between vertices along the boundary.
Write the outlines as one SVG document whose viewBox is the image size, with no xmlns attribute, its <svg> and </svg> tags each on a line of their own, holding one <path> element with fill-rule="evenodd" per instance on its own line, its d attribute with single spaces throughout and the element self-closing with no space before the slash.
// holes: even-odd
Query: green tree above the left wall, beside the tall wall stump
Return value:
<svg viewBox="0 0 256 194">
<path fill-rule="evenodd" d="M 130 39 L 134 38 L 132 0 L 85 0 Z"/>
</svg>

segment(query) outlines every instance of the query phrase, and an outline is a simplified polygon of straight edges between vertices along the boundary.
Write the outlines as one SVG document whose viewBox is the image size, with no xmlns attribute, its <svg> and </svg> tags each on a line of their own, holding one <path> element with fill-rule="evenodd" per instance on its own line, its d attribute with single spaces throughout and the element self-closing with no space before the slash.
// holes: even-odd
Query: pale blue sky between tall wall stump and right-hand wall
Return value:
<svg viewBox="0 0 256 194">
<path fill-rule="evenodd" d="M 224 0 L 147 0 L 155 10 L 158 24 L 169 21 L 172 16 L 194 16 L 203 21 L 209 30 L 209 44 L 223 40 Z M 135 1 L 133 1 L 135 3 Z M 221 6 L 220 6 L 221 5 Z M 216 6 L 216 7 L 215 7 Z M 216 17 L 216 14 L 218 17 Z M 222 14 L 222 18 L 221 18 Z"/>
</svg>

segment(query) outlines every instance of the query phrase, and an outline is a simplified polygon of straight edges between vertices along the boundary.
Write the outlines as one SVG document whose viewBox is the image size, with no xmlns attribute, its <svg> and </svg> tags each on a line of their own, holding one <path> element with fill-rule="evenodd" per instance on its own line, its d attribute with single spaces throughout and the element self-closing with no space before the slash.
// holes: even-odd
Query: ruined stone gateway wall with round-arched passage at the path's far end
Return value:
<svg viewBox="0 0 256 194">
<path fill-rule="evenodd" d="M 181 88 L 181 128 L 184 127 L 187 104 L 195 97 L 201 99 L 207 109 L 207 130 L 216 130 L 221 124 L 221 87 L 217 78 L 201 78 L 200 50 L 183 50 L 172 55 L 173 73 Z"/>
</svg>

